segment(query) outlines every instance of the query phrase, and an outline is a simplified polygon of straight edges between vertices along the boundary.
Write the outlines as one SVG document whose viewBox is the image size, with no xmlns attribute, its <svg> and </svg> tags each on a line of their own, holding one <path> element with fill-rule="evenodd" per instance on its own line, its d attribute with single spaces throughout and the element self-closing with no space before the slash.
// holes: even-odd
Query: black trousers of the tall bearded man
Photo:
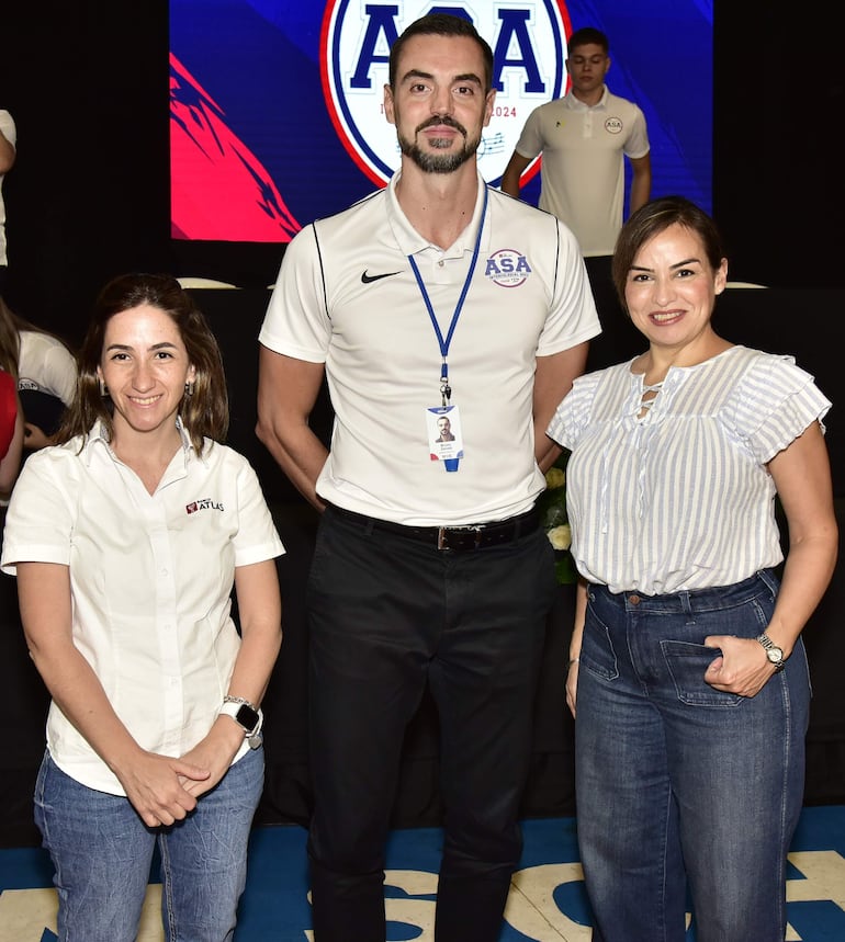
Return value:
<svg viewBox="0 0 845 942">
<path fill-rule="evenodd" d="M 384 845 L 426 683 L 446 807 L 435 938 L 498 939 L 522 847 L 553 559 L 540 530 L 440 552 L 326 509 L 308 585 L 316 942 L 385 939 Z"/>
</svg>

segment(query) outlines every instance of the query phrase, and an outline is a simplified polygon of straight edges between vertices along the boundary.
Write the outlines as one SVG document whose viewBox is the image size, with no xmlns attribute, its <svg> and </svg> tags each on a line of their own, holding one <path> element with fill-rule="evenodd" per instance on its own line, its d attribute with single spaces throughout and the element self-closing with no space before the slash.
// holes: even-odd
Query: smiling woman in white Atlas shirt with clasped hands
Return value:
<svg viewBox="0 0 845 942">
<path fill-rule="evenodd" d="M 174 279 L 106 285 L 79 370 L 59 444 L 18 480 L 0 560 L 52 695 L 35 819 L 58 937 L 134 940 L 158 842 L 167 938 L 230 940 L 284 547 L 255 472 L 219 444 L 219 350 Z"/>
</svg>

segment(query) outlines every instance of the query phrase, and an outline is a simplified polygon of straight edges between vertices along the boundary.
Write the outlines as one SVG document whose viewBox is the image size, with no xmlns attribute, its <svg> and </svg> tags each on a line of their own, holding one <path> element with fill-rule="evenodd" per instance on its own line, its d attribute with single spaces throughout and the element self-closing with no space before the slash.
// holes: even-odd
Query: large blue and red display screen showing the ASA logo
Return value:
<svg viewBox="0 0 845 942">
<path fill-rule="evenodd" d="M 566 41 L 610 39 L 608 88 L 645 113 L 653 195 L 710 211 L 712 0 L 170 0 L 171 234 L 286 242 L 398 166 L 383 111 L 393 39 L 425 13 L 473 21 L 496 105 L 478 167 L 498 185 L 526 118 L 567 90 Z M 537 203 L 542 157 L 522 177 Z"/>
</svg>

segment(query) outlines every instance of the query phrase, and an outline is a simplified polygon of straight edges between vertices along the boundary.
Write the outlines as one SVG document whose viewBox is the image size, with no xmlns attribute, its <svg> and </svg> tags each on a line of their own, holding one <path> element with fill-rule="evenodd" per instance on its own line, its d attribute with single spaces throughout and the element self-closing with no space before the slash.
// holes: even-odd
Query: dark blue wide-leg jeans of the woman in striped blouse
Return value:
<svg viewBox="0 0 845 942">
<path fill-rule="evenodd" d="M 782 942 L 803 798 L 810 677 L 799 639 L 754 697 L 703 681 L 708 635 L 753 638 L 778 582 L 646 597 L 590 586 L 575 720 L 577 827 L 594 940 Z"/>
</svg>

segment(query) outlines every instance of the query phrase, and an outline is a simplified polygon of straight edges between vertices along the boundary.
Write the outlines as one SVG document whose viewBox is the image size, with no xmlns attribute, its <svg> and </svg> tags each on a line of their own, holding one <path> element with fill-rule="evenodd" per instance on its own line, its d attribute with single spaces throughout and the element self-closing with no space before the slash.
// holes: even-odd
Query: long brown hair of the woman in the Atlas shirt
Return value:
<svg viewBox="0 0 845 942">
<path fill-rule="evenodd" d="M 116 314 L 144 304 L 159 308 L 172 319 L 188 351 L 188 360 L 194 367 L 193 393 L 182 397 L 179 408 L 191 444 L 201 454 L 204 438 L 218 442 L 225 440 L 229 423 L 226 376 L 217 340 L 205 317 L 174 277 L 125 274 L 110 281 L 94 304 L 79 353 L 77 395 L 56 434 L 59 444 L 75 435 L 84 435 L 98 420 L 102 420 L 110 435 L 113 434 L 114 406 L 101 393 L 97 374 L 105 329 Z"/>
</svg>

